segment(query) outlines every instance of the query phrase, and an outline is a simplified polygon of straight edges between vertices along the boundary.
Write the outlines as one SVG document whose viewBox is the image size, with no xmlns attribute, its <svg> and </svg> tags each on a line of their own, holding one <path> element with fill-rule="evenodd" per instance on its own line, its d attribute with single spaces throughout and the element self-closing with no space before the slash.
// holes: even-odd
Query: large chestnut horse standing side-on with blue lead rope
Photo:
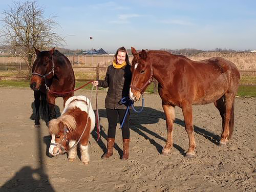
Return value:
<svg viewBox="0 0 256 192">
<path fill-rule="evenodd" d="M 213 102 L 222 117 L 220 144 L 231 138 L 234 126 L 234 97 L 238 91 L 240 74 L 230 61 L 213 57 L 193 61 L 185 56 L 165 51 L 142 50 L 132 47 L 132 82 L 130 98 L 139 100 L 153 77 L 159 82 L 158 93 L 166 116 L 167 140 L 162 154 L 168 154 L 173 146 L 174 107 L 182 109 L 189 147 L 186 157 L 196 155 L 193 134 L 192 105 Z"/>
</svg>

